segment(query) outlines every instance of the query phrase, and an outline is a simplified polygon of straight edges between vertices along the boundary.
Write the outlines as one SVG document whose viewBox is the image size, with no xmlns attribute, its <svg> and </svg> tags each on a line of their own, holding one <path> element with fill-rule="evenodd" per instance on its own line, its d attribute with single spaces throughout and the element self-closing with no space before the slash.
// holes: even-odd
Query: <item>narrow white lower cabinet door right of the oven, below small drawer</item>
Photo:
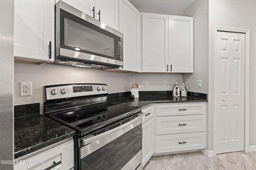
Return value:
<svg viewBox="0 0 256 170">
<path fill-rule="evenodd" d="M 154 150 L 154 119 L 142 124 L 142 164 L 148 162 Z"/>
</svg>

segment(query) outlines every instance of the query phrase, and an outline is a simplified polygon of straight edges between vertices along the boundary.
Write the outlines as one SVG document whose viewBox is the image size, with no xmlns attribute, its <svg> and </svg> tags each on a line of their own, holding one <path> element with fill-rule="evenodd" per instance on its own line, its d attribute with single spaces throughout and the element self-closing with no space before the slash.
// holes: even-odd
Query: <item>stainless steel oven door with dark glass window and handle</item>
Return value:
<svg viewBox="0 0 256 170">
<path fill-rule="evenodd" d="M 94 137 L 81 140 L 79 170 L 142 169 L 142 115 Z"/>
</svg>

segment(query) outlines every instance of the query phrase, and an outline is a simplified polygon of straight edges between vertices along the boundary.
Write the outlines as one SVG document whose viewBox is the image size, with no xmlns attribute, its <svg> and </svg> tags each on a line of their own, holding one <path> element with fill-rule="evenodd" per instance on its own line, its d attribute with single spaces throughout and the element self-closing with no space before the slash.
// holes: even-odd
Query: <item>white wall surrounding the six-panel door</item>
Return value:
<svg viewBox="0 0 256 170">
<path fill-rule="evenodd" d="M 256 145 L 256 1 L 209 0 L 209 116 L 213 108 L 213 42 L 214 26 L 250 29 L 250 140 Z M 211 148 L 210 148 L 211 149 Z"/>
</svg>

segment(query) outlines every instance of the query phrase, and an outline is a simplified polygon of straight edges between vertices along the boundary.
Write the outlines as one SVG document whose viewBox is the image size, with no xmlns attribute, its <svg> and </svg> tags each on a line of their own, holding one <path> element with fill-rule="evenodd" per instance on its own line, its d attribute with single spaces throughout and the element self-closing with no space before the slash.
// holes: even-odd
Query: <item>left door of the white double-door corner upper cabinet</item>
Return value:
<svg viewBox="0 0 256 170">
<path fill-rule="evenodd" d="M 142 72 L 167 72 L 168 15 L 142 14 Z"/>
</svg>

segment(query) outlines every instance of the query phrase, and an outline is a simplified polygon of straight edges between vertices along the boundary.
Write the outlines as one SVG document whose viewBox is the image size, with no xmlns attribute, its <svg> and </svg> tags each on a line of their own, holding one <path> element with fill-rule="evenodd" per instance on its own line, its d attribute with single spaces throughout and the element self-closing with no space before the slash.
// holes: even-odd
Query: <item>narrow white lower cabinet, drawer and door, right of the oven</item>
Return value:
<svg viewBox="0 0 256 170">
<path fill-rule="evenodd" d="M 154 106 L 142 109 L 142 165 L 144 166 L 154 153 Z"/>
</svg>

